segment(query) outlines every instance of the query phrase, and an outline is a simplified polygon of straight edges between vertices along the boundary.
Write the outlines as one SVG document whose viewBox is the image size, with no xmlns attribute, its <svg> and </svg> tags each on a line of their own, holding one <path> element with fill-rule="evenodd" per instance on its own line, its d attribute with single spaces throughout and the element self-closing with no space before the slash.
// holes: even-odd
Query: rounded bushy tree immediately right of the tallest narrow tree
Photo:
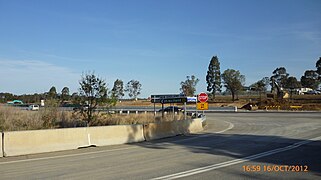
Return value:
<svg viewBox="0 0 321 180">
<path fill-rule="evenodd" d="M 245 76 L 241 75 L 240 71 L 227 69 L 223 72 L 222 79 L 224 86 L 232 94 L 232 100 L 235 101 L 235 95 L 237 95 L 238 91 L 243 89 Z"/>
</svg>

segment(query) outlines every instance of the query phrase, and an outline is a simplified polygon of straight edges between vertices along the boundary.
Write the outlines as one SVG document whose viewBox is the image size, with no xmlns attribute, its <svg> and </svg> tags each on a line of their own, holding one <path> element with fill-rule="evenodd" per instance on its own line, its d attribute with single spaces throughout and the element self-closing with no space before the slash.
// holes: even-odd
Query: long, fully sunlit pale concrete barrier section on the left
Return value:
<svg viewBox="0 0 321 180">
<path fill-rule="evenodd" d="M 87 128 L 4 132 L 6 156 L 62 151 L 89 145 Z"/>
</svg>

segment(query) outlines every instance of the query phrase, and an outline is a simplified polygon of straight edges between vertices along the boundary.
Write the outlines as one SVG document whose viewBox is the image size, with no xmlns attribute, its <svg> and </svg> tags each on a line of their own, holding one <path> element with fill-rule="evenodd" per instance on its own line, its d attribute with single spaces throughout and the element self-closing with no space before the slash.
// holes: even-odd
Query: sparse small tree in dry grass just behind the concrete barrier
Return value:
<svg viewBox="0 0 321 180">
<path fill-rule="evenodd" d="M 81 113 L 84 119 L 91 124 L 94 118 L 94 109 L 98 104 L 107 101 L 107 86 L 104 80 L 97 77 L 94 73 L 83 74 L 79 81 L 79 95 L 82 97 L 82 104 L 86 105 Z"/>
</svg>

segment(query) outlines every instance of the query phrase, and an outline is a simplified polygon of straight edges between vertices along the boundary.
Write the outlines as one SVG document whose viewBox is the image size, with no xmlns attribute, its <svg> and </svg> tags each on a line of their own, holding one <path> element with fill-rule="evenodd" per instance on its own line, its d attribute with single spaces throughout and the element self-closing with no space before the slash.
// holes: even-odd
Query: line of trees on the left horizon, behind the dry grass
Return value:
<svg viewBox="0 0 321 180">
<path fill-rule="evenodd" d="M 39 103 L 41 100 L 56 100 L 62 106 L 68 106 L 68 104 L 79 104 L 84 96 L 95 97 L 94 92 L 100 91 L 101 93 L 105 91 L 103 96 L 108 97 L 108 99 L 113 99 L 117 101 L 128 93 L 128 96 L 132 99 L 137 100 L 141 93 L 141 83 L 138 80 L 130 80 L 126 85 L 120 79 L 114 81 L 113 88 L 109 90 L 105 80 L 97 76 L 93 72 L 88 72 L 81 76 L 79 80 L 80 88 L 78 92 L 71 93 L 68 87 L 63 87 L 63 89 L 58 92 L 55 86 L 52 86 L 48 92 L 35 93 L 35 94 L 23 94 L 14 95 L 12 93 L 0 93 L 0 102 L 6 103 L 7 101 L 12 101 L 19 99 L 27 104 Z M 89 99 L 90 101 L 90 99 Z"/>
</svg>

